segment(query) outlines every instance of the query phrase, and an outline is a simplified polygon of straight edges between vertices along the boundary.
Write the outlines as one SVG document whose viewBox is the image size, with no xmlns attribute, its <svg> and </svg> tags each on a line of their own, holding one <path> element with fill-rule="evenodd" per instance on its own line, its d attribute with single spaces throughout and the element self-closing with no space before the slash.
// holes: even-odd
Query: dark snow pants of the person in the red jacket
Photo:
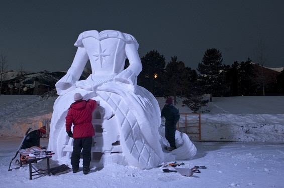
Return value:
<svg viewBox="0 0 284 188">
<path fill-rule="evenodd" d="M 71 155 L 71 165 L 73 169 L 79 168 L 80 155 L 83 155 L 83 166 L 90 165 L 90 150 L 92 145 L 92 137 L 74 138 L 73 152 Z M 82 151 L 82 152 L 81 152 Z"/>
</svg>

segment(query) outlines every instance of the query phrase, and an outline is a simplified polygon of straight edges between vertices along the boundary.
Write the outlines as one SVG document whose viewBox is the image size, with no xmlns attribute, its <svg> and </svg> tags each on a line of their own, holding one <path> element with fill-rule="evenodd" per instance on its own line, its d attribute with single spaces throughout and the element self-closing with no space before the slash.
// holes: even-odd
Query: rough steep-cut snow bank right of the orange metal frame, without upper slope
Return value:
<svg viewBox="0 0 284 188">
<path fill-rule="evenodd" d="M 204 114 L 203 140 L 284 142 L 283 114 Z"/>
</svg>

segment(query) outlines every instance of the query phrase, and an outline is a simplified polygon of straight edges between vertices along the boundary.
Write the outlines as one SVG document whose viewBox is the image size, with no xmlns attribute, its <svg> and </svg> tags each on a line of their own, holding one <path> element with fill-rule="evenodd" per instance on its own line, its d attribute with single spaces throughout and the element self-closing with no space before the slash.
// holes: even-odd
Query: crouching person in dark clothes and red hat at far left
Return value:
<svg viewBox="0 0 284 188">
<path fill-rule="evenodd" d="M 38 130 L 30 132 L 25 138 L 21 149 L 30 148 L 33 146 L 40 147 L 41 149 L 46 149 L 40 145 L 40 138 L 46 133 L 46 127 L 43 126 Z"/>
</svg>

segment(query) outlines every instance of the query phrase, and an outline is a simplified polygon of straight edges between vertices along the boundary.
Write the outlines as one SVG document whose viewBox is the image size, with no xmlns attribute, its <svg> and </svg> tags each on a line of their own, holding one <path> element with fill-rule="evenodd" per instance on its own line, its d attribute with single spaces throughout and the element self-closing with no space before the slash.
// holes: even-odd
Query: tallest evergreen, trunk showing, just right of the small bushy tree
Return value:
<svg viewBox="0 0 284 188">
<path fill-rule="evenodd" d="M 210 94 L 210 102 L 212 97 L 220 96 L 220 91 L 225 88 L 224 66 L 222 65 L 222 53 L 216 49 L 208 49 L 202 59 L 202 63 L 198 64 L 197 70 L 200 72 L 200 80 L 204 86 L 204 91 Z"/>
</svg>

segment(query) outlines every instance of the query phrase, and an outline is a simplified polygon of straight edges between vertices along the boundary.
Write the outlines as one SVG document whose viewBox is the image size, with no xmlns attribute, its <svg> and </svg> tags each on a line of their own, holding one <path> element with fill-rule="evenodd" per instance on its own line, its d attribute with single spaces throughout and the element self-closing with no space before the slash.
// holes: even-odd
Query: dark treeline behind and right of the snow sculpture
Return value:
<svg viewBox="0 0 284 188">
<path fill-rule="evenodd" d="M 165 62 L 163 55 L 153 50 L 141 58 L 143 70 L 137 84 L 158 96 L 192 99 L 203 94 L 212 97 L 283 95 L 284 72 L 281 73 L 246 61 L 223 64 L 218 49 L 208 49 L 197 71 L 185 67 L 176 56 Z M 187 105 L 184 103 L 184 105 Z"/>
</svg>

